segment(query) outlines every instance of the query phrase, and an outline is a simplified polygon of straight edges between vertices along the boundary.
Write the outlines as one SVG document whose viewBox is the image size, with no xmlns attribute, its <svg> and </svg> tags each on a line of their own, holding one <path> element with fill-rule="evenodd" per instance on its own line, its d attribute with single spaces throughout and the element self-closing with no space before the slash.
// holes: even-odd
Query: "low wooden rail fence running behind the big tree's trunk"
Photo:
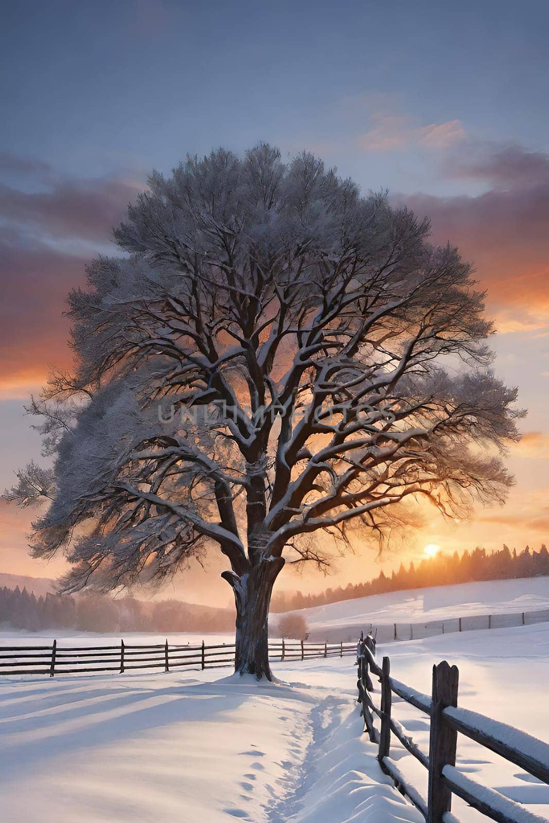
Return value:
<svg viewBox="0 0 549 823">
<path fill-rule="evenodd" d="M 271 660 L 309 660 L 356 656 L 356 643 L 303 643 L 280 640 L 269 643 Z M 206 669 L 230 666 L 235 661 L 235 644 L 184 646 L 165 643 L 134 645 L 123 640 L 113 646 L 2 646 L 0 675 L 56 674 L 85 672 L 128 672 L 133 669 L 163 669 L 170 672 L 179 667 Z"/>
</svg>

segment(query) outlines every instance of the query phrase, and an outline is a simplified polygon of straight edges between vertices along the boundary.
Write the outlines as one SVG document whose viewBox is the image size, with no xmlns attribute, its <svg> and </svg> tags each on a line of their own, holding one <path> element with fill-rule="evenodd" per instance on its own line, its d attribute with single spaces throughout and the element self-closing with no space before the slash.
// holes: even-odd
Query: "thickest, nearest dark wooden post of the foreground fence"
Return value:
<svg viewBox="0 0 549 823">
<path fill-rule="evenodd" d="M 455 765 L 458 732 L 444 723 L 442 713 L 447 706 L 458 705 L 458 681 L 456 666 L 450 667 L 445 660 L 433 666 L 426 823 L 442 823 L 444 812 L 452 807 L 452 792 L 444 781 L 442 770 L 445 765 Z"/>
</svg>

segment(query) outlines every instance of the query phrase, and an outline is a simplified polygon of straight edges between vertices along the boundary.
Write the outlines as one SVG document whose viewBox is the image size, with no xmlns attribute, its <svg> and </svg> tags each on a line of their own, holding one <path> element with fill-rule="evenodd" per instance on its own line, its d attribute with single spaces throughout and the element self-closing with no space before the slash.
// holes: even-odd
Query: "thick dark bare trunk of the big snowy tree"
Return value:
<svg viewBox="0 0 549 823">
<path fill-rule="evenodd" d="M 235 593 L 235 672 L 272 680 L 268 651 L 268 613 L 272 586 L 284 565 L 281 557 L 262 560 L 246 574 L 224 572 Z"/>
</svg>

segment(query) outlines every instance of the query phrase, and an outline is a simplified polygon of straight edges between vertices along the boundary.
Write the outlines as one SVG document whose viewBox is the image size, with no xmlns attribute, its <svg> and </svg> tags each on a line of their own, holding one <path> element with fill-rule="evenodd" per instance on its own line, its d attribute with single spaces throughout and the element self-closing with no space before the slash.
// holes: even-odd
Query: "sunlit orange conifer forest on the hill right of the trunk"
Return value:
<svg viewBox="0 0 549 823">
<path fill-rule="evenodd" d="M 430 588 L 456 583 L 472 583 L 478 580 L 505 580 L 520 577 L 539 577 L 549 574 L 549 552 L 542 545 L 539 551 L 529 546 L 517 554 L 508 546 L 501 551 L 486 553 L 486 549 L 463 551 L 458 555 L 440 553 L 435 557 L 421 560 L 419 565 L 411 563 L 405 568 L 401 563 L 398 571 L 388 576 L 383 571 L 367 583 L 348 584 L 345 588 L 326 588 L 319 594 L 277 592 L 272 597 L 271 611 L 295 611 L 309 606 L 325 606 L 341 600 L 367 597 L 370 594 L 398 592 L 407 588 Z"/>
</svg>

